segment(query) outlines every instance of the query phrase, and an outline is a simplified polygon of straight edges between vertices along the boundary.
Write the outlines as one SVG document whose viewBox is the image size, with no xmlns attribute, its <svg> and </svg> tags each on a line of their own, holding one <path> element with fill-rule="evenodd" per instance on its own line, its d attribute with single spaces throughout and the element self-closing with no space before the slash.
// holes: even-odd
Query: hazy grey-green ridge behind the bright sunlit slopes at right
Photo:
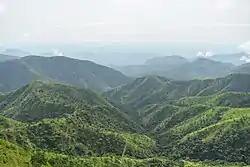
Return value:
<svg viewBox="0 0 250 167">
<path fill-rule="evenodd" d="M 163 77 L 137 78 L 133 83 L 104 93 L 112 101 L 141 108 L 187 96 L 208 96 L 222 92 L 249 92 L 250 75 L 232 74 L 223 78 L 171 81 Z"/>
</svg>

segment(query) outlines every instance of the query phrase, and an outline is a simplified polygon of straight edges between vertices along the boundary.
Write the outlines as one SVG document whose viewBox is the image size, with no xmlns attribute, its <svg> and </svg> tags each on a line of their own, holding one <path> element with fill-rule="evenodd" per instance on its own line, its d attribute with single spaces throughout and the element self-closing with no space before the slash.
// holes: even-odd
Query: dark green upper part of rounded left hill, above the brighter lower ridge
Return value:
<svg viewBox="0 0 250 167">
<path fill-rule="evenodd" d="M 70 85 L 35 81 L 1 96 L 0 114 L 23 122 L 81 115 L 83 122 L 128 130 L 126 116 L 100 95 Z M 102 122 L 103 121 L 103 122 Z M 128 128 L 126 128 L 126 126 Z"/>
</svg>

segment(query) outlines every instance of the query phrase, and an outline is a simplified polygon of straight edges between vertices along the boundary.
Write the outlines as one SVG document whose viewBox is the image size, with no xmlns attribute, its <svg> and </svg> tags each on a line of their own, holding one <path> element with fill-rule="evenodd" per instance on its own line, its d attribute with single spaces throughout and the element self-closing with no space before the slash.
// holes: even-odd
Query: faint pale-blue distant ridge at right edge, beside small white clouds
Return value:
<svg viewBox="0 0 250 167">
<path fill-rule="evenodd" d="M 234 53 L 234 54 L 215 54 L 207 58 L 214 60 L 214 61 L 232 63 L 234 65 L 241 65 L 241 64 L 246 63 L 244 60 L 242 60 L 242 57 L 249 57 L 249 56 L 250 56 L 249 54 L 242 52 L 242 53 Z"/>
</svg>

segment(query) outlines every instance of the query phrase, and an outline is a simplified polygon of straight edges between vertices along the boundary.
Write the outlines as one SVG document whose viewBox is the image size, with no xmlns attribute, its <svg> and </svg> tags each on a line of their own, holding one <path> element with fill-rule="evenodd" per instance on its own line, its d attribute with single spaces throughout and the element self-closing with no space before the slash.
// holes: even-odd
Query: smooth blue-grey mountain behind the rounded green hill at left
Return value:
<svg viewBox="0 0 250 167">
<path fill-rule="evenodd" d="M 6 73 L 7 72 L 7 73 Z M 52 80 L 104 91 L 130 79 L 111 68 L 68 57 L 27 56 L 0 63 L 0 91 L 10 91 L 32 80 Z"/>
</svg>

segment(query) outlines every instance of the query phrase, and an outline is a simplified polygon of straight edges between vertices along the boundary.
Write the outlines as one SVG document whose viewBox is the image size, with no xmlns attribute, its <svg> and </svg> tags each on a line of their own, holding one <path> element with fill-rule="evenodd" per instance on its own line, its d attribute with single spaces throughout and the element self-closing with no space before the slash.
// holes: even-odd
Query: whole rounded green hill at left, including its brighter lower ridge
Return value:
<svg viewBox="0 0 250 167">
<path fill-rule="evenodd" d="M 0 103 L 0 137 L 22 147 L 83 156 L 122 155 L 126 146 L 126 155 L 138 157 L 155 148 L 124 112 L 86 89 L 36 81 Z"/>
</svg>

